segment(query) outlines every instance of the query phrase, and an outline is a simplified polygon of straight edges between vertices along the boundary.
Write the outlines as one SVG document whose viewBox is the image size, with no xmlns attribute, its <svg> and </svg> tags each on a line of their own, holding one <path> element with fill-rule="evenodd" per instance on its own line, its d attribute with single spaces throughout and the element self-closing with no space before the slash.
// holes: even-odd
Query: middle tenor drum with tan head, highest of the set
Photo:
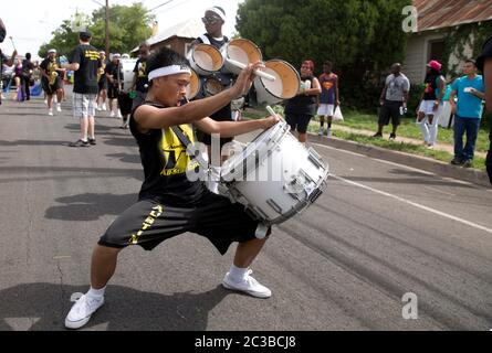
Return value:
<svg viewBox="0 0 492 353">
<path fill-rule="evenodd" d="M 223 66 L 227 72 L 239 75 L 241 68 L 228 62 L 228 58 L 244 65 L 262 61 L 261 50 L 253 42 L 245 39 L 234 39 L 223 44 L 220 49 L 224 58 Z"/>
</svg>

